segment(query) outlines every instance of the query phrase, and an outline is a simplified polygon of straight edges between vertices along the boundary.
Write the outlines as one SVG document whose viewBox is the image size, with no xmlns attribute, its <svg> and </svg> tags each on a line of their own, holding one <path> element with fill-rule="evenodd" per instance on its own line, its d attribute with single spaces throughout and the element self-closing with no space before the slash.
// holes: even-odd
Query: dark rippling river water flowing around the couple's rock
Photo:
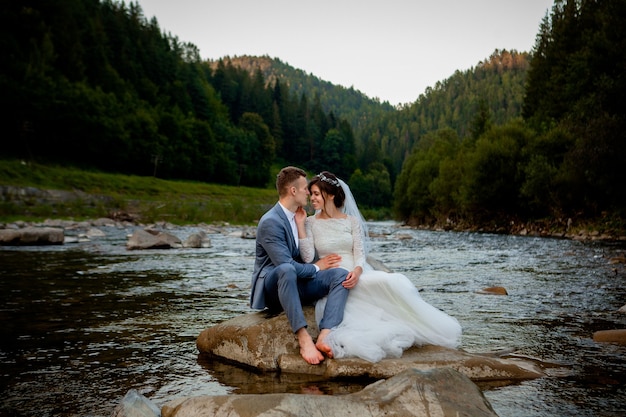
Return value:
<svg viewBox="0 0 626 417">
<path fill-rule="evenodd" d="M 481 386 L 499 416 L 626 414 L 626 348 L 592 339 L 626 328 L 617 311 L 626 268 L 610 261 L 623 244 L 369 227 L 373 256 L 459 320 L 462 349 L 550 364 L 545 378 Z M 0 416 L 109 416 L 131 388 L 160 406 L 366 384 L 257 374 L 198 355 L 202 330 L 250 312 L 254 240 L 241 229 L 210 234 L 210 248 L 148 251 L 126 250 L 131 226 L 101 230 L 81 243 L 0 247 Z M 480 293 L 491 286 L 509 295 Z"/>
</svg>

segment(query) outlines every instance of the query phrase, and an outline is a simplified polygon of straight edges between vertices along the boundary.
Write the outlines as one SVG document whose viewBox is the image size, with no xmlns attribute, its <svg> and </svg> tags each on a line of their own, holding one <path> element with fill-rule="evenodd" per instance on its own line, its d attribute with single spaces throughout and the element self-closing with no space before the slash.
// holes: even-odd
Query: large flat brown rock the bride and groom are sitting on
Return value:
<svg viewBox="0 0 626 417">
<path fill-rule="evenodd" d="M 304 308 L 309 333 L 319 334 L 313 307 Z M 201 353 L 261 371 L 297 373 L 324 378 L 389 378 L 416 368 L 453 368 L 474 381 L 519 381 L 538 378 L 544 372 L 531 361 L 470 354 L 460 349 L 422 346 L 407 349 L 401 358 L 371 363 L 359 358 L 325 359 L 309 365 L 300 356 L 298 342 L 284 313 L 255 312 L 235 317 L 200 333 Z"/>
</svg>

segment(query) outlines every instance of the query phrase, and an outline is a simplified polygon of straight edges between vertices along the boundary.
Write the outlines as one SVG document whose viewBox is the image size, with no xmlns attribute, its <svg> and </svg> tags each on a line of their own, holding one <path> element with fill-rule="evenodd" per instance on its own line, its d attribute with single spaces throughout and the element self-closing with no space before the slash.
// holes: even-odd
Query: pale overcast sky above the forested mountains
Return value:
<svg viewBox="0 0 626 417">
<path fill-rule="evenodd" d="M 138 0 L 203 59 L 267 55 L 392 105 L 495 49 L 530 51 L 553 0 Z M 126 1 L 129 3 L 129 1 Z"/>
</svg>

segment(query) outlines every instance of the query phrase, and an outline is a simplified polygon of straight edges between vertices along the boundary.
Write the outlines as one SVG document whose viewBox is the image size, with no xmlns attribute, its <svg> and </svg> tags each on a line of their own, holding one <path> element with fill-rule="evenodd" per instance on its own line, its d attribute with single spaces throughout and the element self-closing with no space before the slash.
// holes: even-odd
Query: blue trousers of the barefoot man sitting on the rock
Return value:
<svg viewBox="0 0 626 417">
<path fill-rule="evenodd" d="M 341 268 L 319 271 L 310 278 L 298 278 L 291 264 L 282 264 L 265 276 L 265 300 L 270 309 L 282 308 L 291 329 L 307 327 L 302 306 L 328 296 L 319 328 L 331 329 L 343 320 L 348 289 L 342 283 L 348 271 Z"/>
</svg>

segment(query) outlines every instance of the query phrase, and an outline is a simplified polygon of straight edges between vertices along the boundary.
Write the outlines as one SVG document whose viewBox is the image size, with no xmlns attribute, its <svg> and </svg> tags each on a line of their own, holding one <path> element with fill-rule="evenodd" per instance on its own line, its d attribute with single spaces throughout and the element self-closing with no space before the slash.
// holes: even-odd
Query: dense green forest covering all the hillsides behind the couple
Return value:
<svg viewBox="0 0 626 417">
<path fill-rule="evenodd" d="M 279 59 L 203 61 L 133 2 L 3 2 L 0 158 L 252 187 L 328 169 L 411 224 L 623 219 L 625 3 L 556 0 L 532 51 L 394 108 Z"/>
</svg>

